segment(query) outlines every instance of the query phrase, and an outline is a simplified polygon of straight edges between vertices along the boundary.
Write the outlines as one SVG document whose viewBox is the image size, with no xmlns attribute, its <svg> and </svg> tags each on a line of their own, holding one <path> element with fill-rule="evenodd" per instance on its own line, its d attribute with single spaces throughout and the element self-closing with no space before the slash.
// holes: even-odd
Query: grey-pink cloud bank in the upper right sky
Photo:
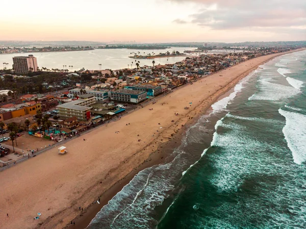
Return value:
<svg viewBox="0 0 306 229">
<path fill-rule="evenodd" d="M 189 15 L 188 22 L 213 30 L 290 28 L 306 24 L 306 1 L 303 0 L 291 0 L 290 3 L 287 0 L 166 1 L 198 4 L 200 10 Z M 212 5 L 216 7 L 212 8 Z M 181 19 L 174 20 L 178 21 Z"/>
</svg>

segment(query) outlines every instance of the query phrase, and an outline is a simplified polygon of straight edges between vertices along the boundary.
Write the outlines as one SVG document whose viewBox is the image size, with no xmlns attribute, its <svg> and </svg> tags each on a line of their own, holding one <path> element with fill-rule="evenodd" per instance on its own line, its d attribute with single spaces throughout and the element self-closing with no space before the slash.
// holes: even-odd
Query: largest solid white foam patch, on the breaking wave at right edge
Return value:
<svg viewBox="0 0 306 229">
<path fill-rule="evenodd" d="M 278 110 L 286 118 L 283 133 L 296 164 L 306 161 L 306 116 L 303 114 Z"/>
</svg>

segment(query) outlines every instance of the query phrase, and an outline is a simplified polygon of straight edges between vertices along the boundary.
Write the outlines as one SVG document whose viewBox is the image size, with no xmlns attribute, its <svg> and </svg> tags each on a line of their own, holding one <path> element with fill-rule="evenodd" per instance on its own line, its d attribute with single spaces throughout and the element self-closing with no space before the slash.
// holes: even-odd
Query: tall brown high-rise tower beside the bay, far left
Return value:
<svg viewBox="0 0 306 229">
<path fill-rule="evenodd" d="M 37 71 L 37 59 L 33 55 L 28 57 L 13 57 L 15 74 L 28 74 Z"/>
</svg>

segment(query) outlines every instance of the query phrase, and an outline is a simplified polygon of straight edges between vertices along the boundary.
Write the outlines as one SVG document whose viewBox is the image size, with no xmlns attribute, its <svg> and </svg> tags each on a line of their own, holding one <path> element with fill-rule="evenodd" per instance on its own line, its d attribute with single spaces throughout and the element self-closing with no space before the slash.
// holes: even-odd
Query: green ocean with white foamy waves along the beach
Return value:
<svg viewBox="0 0 306 229">
<path fill-rule="evenodd" d="M 88 228 L 306 228 L 306 51 L 251 72 Z"/>
</svg>

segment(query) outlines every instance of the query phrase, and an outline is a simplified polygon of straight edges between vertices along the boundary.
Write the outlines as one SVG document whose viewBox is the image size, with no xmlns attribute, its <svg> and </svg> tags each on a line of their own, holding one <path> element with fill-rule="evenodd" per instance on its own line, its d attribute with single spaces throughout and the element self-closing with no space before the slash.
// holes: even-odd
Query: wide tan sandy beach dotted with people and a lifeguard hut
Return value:
<svg viewBox="0 0 306 229">
<path fill-rule="evenodd" d="M 177 137 L 175 134 L 180 134 L 186 123 L 205 113 L 216 99 L 260 64 L 284 54 L 248 60 L 199 79 L 161 97 L 154 105 L 64 142 L 66 155 L 60 156 L 57 148 L 50 148 L 1 172 L 0 228 L 65 227 L 80 216 L 79 207 L 85 210 L 118 181 L 121 186 L 128 182 L 129 179 L 122 181 L 126 175 L 160 163 L 165 151 L 161 146 Z M 147 160 L 150 156 L 154 158 Z M 117 189 L 108 193 L 108 199 Z M 34 220 L 37 213 L 41 216 Z"/>
</svg>

